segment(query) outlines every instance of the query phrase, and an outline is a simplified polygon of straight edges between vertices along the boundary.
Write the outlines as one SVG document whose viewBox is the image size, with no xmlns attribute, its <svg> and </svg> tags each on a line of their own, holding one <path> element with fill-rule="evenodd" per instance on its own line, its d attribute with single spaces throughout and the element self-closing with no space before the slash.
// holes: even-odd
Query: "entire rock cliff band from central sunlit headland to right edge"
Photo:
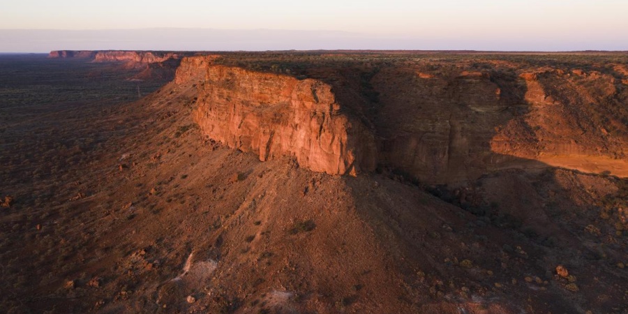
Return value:
<svg viewBox="0 0 628 314">
<path fill-rule="evenodd" d="M 207 136 L 260 160 L 293 155 L 329 174 L 381 165 L 442 184 L 547 165 L 628 175 L 628 89 L 617 75 L 437 63 L 387 66 L 366 83 L 337 69 L 297 80 L 217 57 L 185 58 L 175 82 L 196 84 Z"/>
</svg>

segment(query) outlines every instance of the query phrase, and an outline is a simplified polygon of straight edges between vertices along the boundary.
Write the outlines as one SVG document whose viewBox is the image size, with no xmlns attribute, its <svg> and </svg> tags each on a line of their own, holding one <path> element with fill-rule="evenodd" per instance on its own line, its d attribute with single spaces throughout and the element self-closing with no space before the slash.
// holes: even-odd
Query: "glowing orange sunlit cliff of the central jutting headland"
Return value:
<svg viewBox="0 0 628 314">
<path fill-rule="evenodd" d="M 211 57 L 181 61 L 175 82 L 190 80 L 202 81 L 194 119 L 211 139 L 260 160 L 294 156 L 316 172 L 375 169 L 372 133 L 341 112 L 329 84 L 213 65 Z"/>
</svg>

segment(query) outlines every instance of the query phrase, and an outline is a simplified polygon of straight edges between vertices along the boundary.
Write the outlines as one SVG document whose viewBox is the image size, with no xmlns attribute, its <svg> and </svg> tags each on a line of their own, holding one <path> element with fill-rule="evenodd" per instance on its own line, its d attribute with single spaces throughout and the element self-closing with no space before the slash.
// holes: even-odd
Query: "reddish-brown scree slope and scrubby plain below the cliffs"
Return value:
<svg viewBox="0 0 628 314">
<path fill-rule="evenodd" d="M 192 86 L 0 63 L 0 312 L 628 313 L 625 179 L 330 176 L 203 137 Z"/>
</svg>

